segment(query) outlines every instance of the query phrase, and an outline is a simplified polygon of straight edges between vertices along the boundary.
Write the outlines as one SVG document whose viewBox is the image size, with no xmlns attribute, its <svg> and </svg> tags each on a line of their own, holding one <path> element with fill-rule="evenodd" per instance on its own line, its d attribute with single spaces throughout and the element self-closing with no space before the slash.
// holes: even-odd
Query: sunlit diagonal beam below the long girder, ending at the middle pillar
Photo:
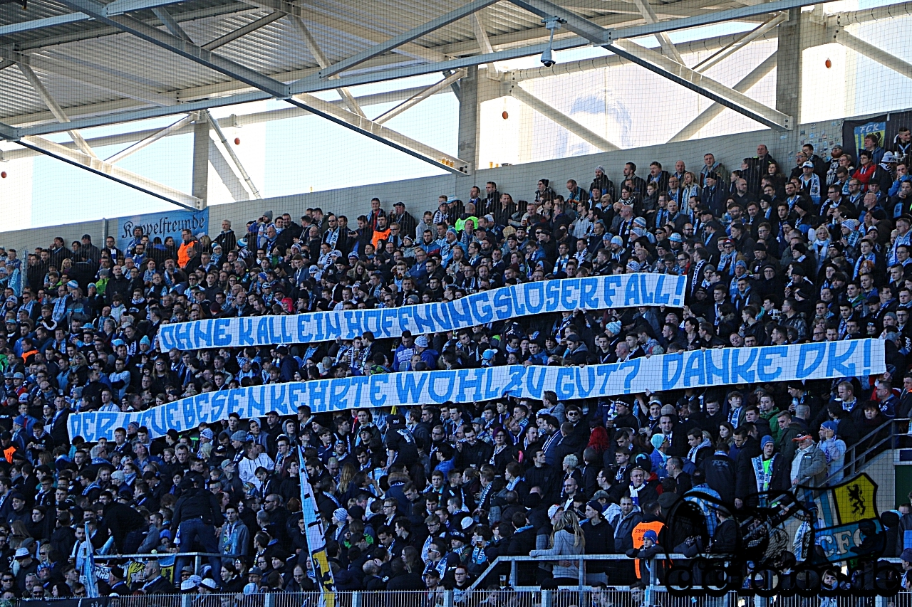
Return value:
<svg viewBox="0 0 912 607">
<path fill-rule="evenodd" d="M 373 120 L 358 116 L 358 114 L 343 108 L 338 108 L 329 101 L 324 101 L 313 95 L 298 95 L 295 98 L 288 99 L 288 103 L 298 108 L 304 108 L 312 114 L 335 122 L 337 125 L 366 135 L 370 139 L 385 143 L 391 148 L 399 149 L 399 151 L 424 160 L 438 169 L 447 170 L 457 175 L 465 174 L 470 170 L 469 163 L 460 158 L 442 152 L 440 149 L 431 148 L 420 141 L 402 135 L 398 131 L 388 129 Z"/>
</svg>

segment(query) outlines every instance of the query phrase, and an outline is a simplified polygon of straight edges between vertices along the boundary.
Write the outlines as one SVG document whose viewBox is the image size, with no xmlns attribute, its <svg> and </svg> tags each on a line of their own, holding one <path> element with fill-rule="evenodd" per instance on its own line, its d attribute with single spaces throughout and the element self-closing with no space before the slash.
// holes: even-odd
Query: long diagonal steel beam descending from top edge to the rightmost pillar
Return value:
<svg viewBox="0 0 912 607">
<path fill-rule="evenodd" d="M 666 77 L 683 87 L 698 93 L 706 98 L 722 104 L 727 108 L 760 122 L 774 129 L 792 129 L 793 118 L 781 111 L 768 108 L 759 101 L 747 95 L 726 87 L 710 77 L 703 76 L 689 67 L 682 66 L 677 61 L 665 57 L 661 53 L 639 46 L 629 40 L 617 40 L 614 43 L 605 42 L 607 30 L 596 26 L 591 21 L 566 11 L 550 0 L 511 0 L 513 4 L 522 6 L 535 15 L 559 16 L 565 19 L 565 28 L 578 36 L 584 36 L 598 46 L 605 46 L 620 57 L 624 57 L 640 67 L 646 67 L 661 77 Z"/>
</svg>

